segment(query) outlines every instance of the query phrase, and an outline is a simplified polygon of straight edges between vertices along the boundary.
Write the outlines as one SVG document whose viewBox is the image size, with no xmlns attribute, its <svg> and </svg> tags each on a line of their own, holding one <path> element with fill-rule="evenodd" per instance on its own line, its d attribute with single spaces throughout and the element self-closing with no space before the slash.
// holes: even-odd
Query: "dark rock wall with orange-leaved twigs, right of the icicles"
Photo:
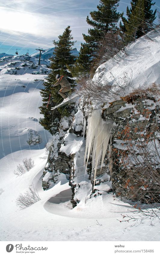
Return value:
<svg viewBox="0 0 160 256">
<path fill-rule="evenodd" d="M 109 145 L 112 189 L 121 198 L 160 202 L 158 101 L 149 95 L 134 95 L 134 99 L 119 100 L 118 111 L 112 112 L 115 106 L 116 102 L 103 111 L 103 118 L 109 116 L 117 124 Z"/>
</svg>

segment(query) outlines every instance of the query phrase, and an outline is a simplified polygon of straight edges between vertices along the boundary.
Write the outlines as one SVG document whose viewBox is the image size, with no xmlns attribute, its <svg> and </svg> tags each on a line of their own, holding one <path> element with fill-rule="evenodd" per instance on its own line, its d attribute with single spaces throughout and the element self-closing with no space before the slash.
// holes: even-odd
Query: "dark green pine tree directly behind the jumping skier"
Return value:
<svg viewBox="0 0 160 256">
<path fill-rule="evenodd" d="M 64 75 L 70 84 L 74 86 L 74 80 L 72 74 L 68 71 L 68 66 L 72 67 L 75 63 L 75 56 L 71 54 L 72 46 L 74 45 L 73 37 L 71 35 L 70 26 L 68 26 L 62 35 L 58 36 L 58 41 L 53 41 L 55 45 L 54 56 L 51 60 L 51 73 L 48 74 L 46 81 L 43 83 L 44 89 L 40 91 L 43 104 L 40 109 L 40 113 L 44 115 L 44 118 L 40 118 L 39 123 L 51 134 L 57 132 L 60 118 L 69 114 L 69 108 L 67 106 L 51 110 L 51 107 L 57 105 L 62 101 L 62 97 L 57 94 L 58 87 L 51 87 L 56 83 L 56 75 Z M 60 88 L 59 88 L 60 89 Z M 51 94 L 51 96 L 50 96 Z M 48 104 L 50 96 L 50 101 Z M 47 108 L 48 104 L 48 108 Z"/>
</svg>

